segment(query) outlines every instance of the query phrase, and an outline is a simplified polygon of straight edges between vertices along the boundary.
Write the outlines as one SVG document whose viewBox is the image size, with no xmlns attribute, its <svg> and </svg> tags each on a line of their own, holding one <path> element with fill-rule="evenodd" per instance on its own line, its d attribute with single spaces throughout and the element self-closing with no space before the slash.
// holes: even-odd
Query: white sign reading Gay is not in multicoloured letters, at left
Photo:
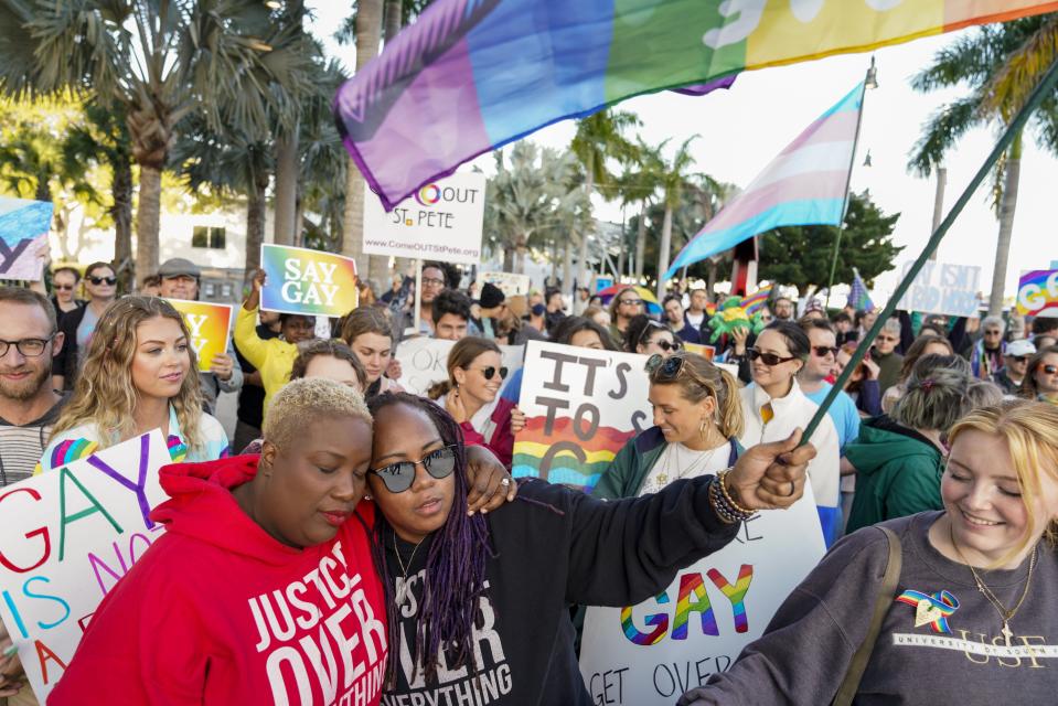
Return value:
<svg viewBox="0 0 1058 706">
<path fill-rule="evenodd" d="M 156 429 L 0 489 L 0 617 L 42 704 L 107 591 L 161 534 L 148 515 L 171 462 Z"/>
</svg>

